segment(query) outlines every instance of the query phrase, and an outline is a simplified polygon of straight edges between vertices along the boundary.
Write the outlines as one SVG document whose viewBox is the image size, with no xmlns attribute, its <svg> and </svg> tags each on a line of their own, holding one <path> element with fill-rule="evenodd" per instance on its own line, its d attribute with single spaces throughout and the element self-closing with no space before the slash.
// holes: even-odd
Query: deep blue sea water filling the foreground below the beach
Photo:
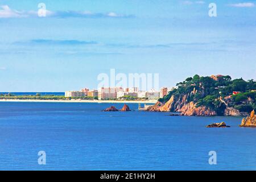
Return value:
<svg viewBox="0 0 256 182">
<path fill-rule="evenodd" d="M 1 102 L 0 169 L 255 170 L 256 129 L 241 117 L 102 112 L 122 104 Z M 137 104 L 129 104 L 136 110 Z M 206 128 L 225 121 L 230 128 Z M 46 165 L 38 152 L 46 152 Z M 217 165 L 209 165 L 209 151 Z"/>
</svg>

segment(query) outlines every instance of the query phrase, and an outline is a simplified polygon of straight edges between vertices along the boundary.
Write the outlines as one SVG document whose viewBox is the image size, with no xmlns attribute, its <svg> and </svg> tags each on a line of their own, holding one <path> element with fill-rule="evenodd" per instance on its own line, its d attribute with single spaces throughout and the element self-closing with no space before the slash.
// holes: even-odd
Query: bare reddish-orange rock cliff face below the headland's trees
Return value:
<svg viewBox="0 0 256 182">
<path fill-rule="evenodd" d="M 148 107 L 148 111 L 159 111 L 159 112 L 180 112 L 181 115 L 216 115 L 216 111 L 210 110 L 208 107 L 201 106 L 196 107 L 196 103 L 187 102 L 187 96 L 175 97 L 172 96 L 166 104 L 157 102 L 154 106 Z"/>
</svg>

